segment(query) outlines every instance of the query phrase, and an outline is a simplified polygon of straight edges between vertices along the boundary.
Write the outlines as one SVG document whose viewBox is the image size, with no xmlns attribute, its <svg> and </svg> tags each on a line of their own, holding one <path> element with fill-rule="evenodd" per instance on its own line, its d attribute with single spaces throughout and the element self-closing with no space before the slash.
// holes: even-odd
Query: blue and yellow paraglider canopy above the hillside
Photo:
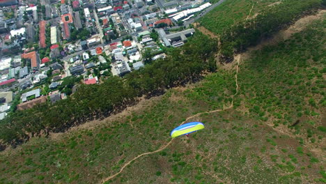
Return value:
<svg viewBox="0 0 326 184">
<path fill-rule="evenodd" d="M 189 133 L 196 132 L 205 128 L 203 123 L 201 122 L 190 122 L 185 123 L 183 125 L 178 126 L 177 128 L 173 129 L 170 133 L 171 137 L 178 137 L 180 135 L 189 135 Z"/>
</svg>

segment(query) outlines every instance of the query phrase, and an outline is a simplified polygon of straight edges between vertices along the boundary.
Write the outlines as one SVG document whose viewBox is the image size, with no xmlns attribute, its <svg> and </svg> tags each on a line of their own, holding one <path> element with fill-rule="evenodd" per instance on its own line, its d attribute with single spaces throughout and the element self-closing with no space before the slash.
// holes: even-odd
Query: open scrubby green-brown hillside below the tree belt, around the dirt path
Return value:
<svg viewBox="0 0 326 184">
<path fill-rule="evenodd" d="M 233 109 L 192 119 L 206 128 L 139 158 L 108 183 L 325 183 L 325 39 L 324 17 L 251 53 L 240 63 Z M 2 153 L 0 181 L 98 183 L 167 144 L 188 116 L 228 107 L 234 76 L 221 69 L 97 128 L 32 139 Z"/>
</svg>

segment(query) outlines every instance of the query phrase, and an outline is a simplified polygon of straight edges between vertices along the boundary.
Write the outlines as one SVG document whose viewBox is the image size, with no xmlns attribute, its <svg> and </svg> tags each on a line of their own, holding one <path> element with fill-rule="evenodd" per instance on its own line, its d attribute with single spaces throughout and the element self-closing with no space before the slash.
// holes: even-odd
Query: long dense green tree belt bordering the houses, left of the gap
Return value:
<svg viewBox="0 0 326 184">
<path fill-rule="evenodd" d="M 134 105 L 141 95 L 157 95 L 173 86 L 201 78 L 203 72 L 216 70 L 214 53 L 217 41 L 196 33 L 182 48 L 172 49 L 166 59 L 148 64 L 124 78 L 109 77 L 99 85 L 81 85 L 68 99 L 54 105 L 43 103 L 17 111 L 0 123 L 3 148 L 27 141 L 30 137 L 63 132 L 68 128 L 120 112 Z M 70 87 L 65 80 L 65 88 Z"/>
</svg>

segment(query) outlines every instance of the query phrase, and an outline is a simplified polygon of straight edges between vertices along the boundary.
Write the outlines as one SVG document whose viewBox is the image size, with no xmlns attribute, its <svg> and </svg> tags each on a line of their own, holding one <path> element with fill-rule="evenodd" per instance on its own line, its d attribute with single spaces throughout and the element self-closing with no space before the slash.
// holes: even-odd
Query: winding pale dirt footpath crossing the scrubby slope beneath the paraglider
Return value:
<svg viewBox="0 0 326 184">
<path fill-rule="evenodd" d="M 239 85 L 238 85 L 238 71 L 239 71 L 240 59 L 241 59 L 241 55 L 240 54 L 238 56 L 235 56 L 235 60 L 237 61 L 236 72 L 235 72 L 235 86 L 236 86 L 236 91 L 235 91 L 235 94 L 232 97 L 231 105 L 229 105 L 228 107 L 225 107 L 223 109 L 216 109 L 216 110 L 213 110 L 213 111 L 210 111 L 210 112 L 201 112 L 201 113 L 195 114 L 194 116 L 189 116 L 180 125 L 183 125 L 184 123 L 186 123 L 187 121 L 189 121 L 190 119 L 192 119 L 194 117 L 201 116 L 201 114 L 210 114 L 210 113 L 215 113 L 215 112 L 222 112 L 222 111 L 224 111 L 226 109 L 231 109 L 233 107 L 233 99 L 234 99 L 234 96 L 238 94 L 238 90 L 239 90 Z M 163 151 L 166 147 L 168 147 L 172 143 L 173 140 L 174 139 L 171 139 L 171 141 L 169 141 L 167 144 L 165 144 L 161 148 L 157 149 L 156 151 L 146 152 L 146 153 L 142 153 L 142 154 L 138 155 L 137 157 L 133 158 L 129 162 L 125 163 L 123 165 L 123 167 L 121 167 L 120 171 L 118 171 L 116 174 L 113 174 L 113 175 L 111 175 L 111 176 L 109 176 L 107 178 L 104 178 L 101 183 L 105 183 L 107 181 L 110 181 L 112 178 L 115 178 L 118 174 L 121 174 L 121 172 L 123 171 L 123 169 L 125 169 L 125 167 L 127 167 L 129 164 L 131 164 L 134 160 L 137 160 L 137 159 L 139 159 L 139 158 L 141 158 L 142 156 L 145 156 L 145 155 L 151 155 L 151 154 L 154 154 L 154 153 Z"/>
</svg>

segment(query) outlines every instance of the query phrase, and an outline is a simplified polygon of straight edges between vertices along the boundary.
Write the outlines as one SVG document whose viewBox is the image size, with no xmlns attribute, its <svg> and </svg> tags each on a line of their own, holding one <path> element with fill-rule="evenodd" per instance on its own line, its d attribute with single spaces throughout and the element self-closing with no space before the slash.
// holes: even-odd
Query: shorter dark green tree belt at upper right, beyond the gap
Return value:
<svg viewBox="0 0 326 184">
<path fill-rule="evenodd" d="M 234 52 L 241 52 L 256 45 L 263 38 L 283 29 L 304 13 L 311 13 L 320 7 L 321 0 L 284 0 L 278 6 L 271 6 L 255 19 L 240 22 L 226 29 L 221 36 L 221 53 L 228 59 Z"/>
</svg>

